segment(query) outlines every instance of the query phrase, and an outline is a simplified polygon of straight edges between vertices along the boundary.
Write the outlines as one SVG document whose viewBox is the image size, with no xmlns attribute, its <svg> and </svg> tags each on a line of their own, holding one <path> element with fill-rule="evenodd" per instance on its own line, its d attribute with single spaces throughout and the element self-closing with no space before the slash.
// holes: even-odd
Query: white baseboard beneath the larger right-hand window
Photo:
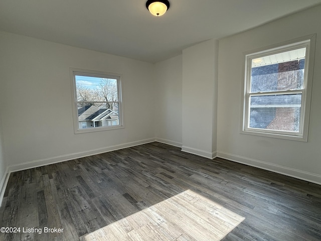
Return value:
<svg viewBox="0 0 321 241">
<path fill-rule="evenodd" d="M 305 172 L 305 171 L 301 171 L 301 170 L 297 170 L 289 167 L 284 167 L 284 166 L 280 166 L 280 165 L 276 165 L 268 162 L 263 162 L 256 159 L 233 155 L 225 152 L 218 151 L 217 157 L 321 185 L 321 175 L 318 175 L 318 174 Z"/>
</svg>

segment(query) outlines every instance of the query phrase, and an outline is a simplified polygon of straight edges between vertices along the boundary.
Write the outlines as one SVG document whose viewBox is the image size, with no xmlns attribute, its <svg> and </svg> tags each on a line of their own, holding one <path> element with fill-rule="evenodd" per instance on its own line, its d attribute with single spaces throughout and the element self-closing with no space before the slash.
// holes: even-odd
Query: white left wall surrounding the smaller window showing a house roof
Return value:
<svg viewBox="0 0 321 241">
<path fill-rule="evenodd" d="M 153 64 L 6 32 L 0 46 L 10 170 L 154 140 Z M 124 129 L 74 134 L 70 67 L 123 75 Z"/>
</svg>

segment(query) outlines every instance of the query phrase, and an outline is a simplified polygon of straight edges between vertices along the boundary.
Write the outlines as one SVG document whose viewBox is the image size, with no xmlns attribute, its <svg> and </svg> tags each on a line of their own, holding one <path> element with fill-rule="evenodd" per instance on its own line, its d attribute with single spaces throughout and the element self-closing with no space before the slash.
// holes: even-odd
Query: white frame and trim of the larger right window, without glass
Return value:
<svg viewBox="0 0 321 241">
<path fill-rule="evenodd" d="M 306 48 L 305 53 L 305 67 L 303 75 L 303 87 L 300 90 L 287 90 L 287 91 L 271 91 L 271 92 L 257 92 L 251 93 L 251 68 L 252 59 L 261 58 L 264 56 L 282 53 L 294 49 Z M 263 137 L 273 137 L 287 140 L 307 142 L 308 124 L 309 124 L 309 111 L 312 92 L 312 78 L 313 78 L 313 63 L 314 63 L 314 48 L 315 48 L 315 34 L 303 38 L 295 39 L 278 45 L 273 45 L 266 48 L 261 48 L 254 51 L 244 53 L 244 81 L 242 93 L 242 122 L 241 134 L 249 134 Z M 290 94 L 301 93 L 301 109 L 300 109 L 300 122 L 298 132 L 276 131 L 267 129 L 250 128 L 250 97 L 255 95 L 269 95 L 269 94 Z"/>
</svg>

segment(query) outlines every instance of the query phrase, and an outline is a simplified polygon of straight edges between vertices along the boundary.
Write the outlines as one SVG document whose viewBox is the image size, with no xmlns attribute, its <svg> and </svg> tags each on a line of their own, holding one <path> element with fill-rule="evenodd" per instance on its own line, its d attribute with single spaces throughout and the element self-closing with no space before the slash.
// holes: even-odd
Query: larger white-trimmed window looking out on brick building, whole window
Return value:
<svg viewBox="0 0 321 241">
<path fill-rule="evenodd" d="M 245 55 L 242 133 L 307 141 L 314 38 Z"/>
</svg>

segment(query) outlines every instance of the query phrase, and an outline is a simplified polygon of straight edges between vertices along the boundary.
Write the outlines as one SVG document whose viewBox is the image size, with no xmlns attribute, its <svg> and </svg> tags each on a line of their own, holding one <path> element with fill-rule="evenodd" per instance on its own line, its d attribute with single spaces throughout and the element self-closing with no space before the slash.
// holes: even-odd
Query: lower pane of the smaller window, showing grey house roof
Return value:
<svg viewBox="0 0 321 241">
<path fill-rule="evenodd" d="M 118 103 L 78 103 L 79 129 L 119 126 Z"/>
</svg>

